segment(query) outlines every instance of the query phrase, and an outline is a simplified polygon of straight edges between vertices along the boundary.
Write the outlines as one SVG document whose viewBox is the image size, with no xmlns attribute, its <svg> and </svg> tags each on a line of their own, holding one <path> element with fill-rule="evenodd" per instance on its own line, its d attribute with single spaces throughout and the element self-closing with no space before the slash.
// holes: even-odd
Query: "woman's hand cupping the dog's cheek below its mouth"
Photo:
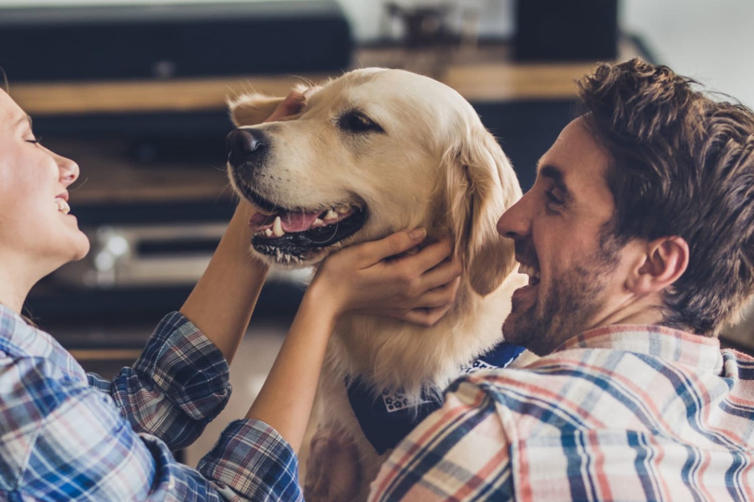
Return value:
<svg viewBox="0 0 754 502">
<path fill-rule="evenodd" d="M 338 251 L 320 266 L 307 294 L 336 318 L 357 312 L 431 326 L 455 300 L 461 266 L 446 260 L 449 239 L 395 257 L 425 236 L 422 229 L 403 231 Z"/>
</svg>

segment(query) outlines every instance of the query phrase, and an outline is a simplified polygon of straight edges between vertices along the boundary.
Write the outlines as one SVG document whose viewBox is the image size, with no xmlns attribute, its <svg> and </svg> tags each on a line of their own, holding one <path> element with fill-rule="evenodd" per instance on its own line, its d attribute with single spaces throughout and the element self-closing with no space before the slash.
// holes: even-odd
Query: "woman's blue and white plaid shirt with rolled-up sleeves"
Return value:
<svg viewBox="0 0 754 502">
<path fill-rule="evenodd" d="M 231 422 L 198 469 L 173 458 L 230 392 L 225 358 L 177 312 L 108 381 L 0 306 L 0 500 L 302 500 L 296 455 L 260 421 Z"/>
</svg>

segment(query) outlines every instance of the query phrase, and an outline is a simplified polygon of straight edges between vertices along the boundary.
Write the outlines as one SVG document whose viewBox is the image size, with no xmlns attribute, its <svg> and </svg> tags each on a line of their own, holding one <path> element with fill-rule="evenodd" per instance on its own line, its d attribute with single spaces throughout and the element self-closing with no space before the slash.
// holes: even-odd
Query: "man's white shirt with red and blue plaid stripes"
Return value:
<svg viewBox="0 0 754 502">
<path fill-rule="evenodd" d="M 472 373 L 397 446 L 369 500 L 754 500 L 754 359 L 611 326 Z"/>
</svg>

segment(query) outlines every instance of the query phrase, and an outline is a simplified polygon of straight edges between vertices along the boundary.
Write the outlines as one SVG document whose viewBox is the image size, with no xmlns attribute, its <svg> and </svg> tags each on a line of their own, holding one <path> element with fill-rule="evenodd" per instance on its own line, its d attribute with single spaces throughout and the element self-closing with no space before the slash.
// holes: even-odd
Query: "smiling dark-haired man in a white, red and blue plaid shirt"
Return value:
<svg viewBox="0 0 754 502">
<path fill-rule="evenodd" d="M 754 500 L 754 114 L 664 66 L 599 65 L 498 222 L 529 285 L 509 342 L 394 451 L 371 500 Z"/>
</svg>

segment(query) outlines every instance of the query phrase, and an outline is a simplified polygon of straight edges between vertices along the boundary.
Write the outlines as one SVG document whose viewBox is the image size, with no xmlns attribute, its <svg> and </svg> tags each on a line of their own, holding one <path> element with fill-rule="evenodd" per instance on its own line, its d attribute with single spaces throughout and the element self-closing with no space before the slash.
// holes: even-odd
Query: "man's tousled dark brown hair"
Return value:
<svg viewBox="0 0 754 502">
<path fill-rule="evenodd" d="M 688 243 L 663 324 L 719 333 L 754 292 L 754 114 L 642 59 L 602 63 L 577 84 L 584 120 L 611 156 L 619 242 Z"/>
</svg>

